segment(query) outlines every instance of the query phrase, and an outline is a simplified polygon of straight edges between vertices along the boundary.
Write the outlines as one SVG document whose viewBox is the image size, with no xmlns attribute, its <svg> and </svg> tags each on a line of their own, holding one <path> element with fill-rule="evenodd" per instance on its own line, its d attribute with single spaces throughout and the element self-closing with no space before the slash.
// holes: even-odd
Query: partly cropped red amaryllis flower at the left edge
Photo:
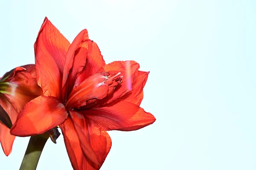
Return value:
<svg viewBox="0 0 256 170">
<path fill-rule="evenodd" d="M 36 82 L 34 64 L 16 67 L 0 78 L 0 142 L 6 156 L 15 139 L 10 134 L 12 124 L 24 105 L 39 95 L 42 89 Z"/>
</svg>

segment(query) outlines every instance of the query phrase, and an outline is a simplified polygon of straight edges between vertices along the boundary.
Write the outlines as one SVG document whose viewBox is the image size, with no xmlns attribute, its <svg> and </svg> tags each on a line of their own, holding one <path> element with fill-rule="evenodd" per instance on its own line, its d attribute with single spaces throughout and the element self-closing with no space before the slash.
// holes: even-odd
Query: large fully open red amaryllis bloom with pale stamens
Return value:
<svg viewBox="0 0 256 170">
<path fill-rule="evenodd" d="M 106 131 L 138 130 L 155 121 L 140 107 L 149 72 L 138 71 L 135 61 L 106 65 L 86 29 L 70 45 L 46 18 L 35 66 L 44 95 L 26 104 L 11 133 L 37 135 L 59 125 L 75 170 L 99 170 L 111 148 Z"/>
</svg>

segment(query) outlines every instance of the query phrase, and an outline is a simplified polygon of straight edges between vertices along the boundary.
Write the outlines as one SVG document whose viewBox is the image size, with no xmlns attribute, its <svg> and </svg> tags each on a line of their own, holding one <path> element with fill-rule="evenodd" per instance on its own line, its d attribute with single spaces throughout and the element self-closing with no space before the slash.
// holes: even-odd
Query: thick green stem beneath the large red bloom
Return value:
<svg viewBox="0 0 256 170">
<path fill-rule="evenodd" d="M 26 149 L 26 153 L 20 165 L 20 170 L 36 170 L 39 158 L 48 138 L 49 135 L 46 133 L 42 135 L 31 136 L 28 147 Z"/>
</svg>

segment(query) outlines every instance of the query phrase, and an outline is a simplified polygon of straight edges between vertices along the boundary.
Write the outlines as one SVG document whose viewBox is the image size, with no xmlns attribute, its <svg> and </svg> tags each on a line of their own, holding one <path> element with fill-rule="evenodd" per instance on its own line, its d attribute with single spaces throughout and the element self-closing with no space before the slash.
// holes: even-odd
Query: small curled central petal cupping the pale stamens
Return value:
<svg viewBox="0 0 256 170">
<path fill-rule="evenodd" d="M 108 84 L 105 84 L 107 75 L 106 72 L 92 75 L 73 89 L 67 100 L 67 108 L 79 108 L 90 99 L 105 98 L 108 95 Z"/>
</svg>

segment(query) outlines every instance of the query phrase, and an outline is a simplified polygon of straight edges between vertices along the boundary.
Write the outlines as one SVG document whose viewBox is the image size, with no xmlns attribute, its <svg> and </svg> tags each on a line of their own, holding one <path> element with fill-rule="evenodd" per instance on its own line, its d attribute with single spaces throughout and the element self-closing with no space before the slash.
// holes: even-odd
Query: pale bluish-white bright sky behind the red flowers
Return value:
<svg viewBox="0 0 256 170">
<path fill-rule="evenodd" d="M 0 77 L 35 63 L 48 19 L 72 42 L 82 29 L 106 63 L 150 71 L 141 107 L 154 124 L 111 131 L 101 170 L 256 169 L 255 0 L 1 0 Z M 18 170 L 29 138 L 16 138 L 3 170 Z M 37 170 L 72 170 L 61 135 Z"/>
</svg>

